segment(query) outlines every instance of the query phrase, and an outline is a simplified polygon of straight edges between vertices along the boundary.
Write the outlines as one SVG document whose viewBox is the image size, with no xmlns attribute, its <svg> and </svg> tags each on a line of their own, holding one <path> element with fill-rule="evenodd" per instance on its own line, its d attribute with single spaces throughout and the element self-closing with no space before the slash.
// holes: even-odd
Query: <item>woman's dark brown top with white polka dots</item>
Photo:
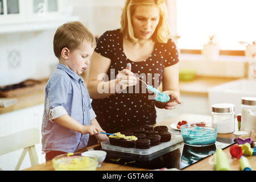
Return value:
<svg viewBox="0 0 256 182">
<path fill-rule="evenodd" d="M 155 88 L 162 82 L 164 68 L 179 61 L 176 45 L 171 39 L 167 43 L 156 42 L 154 51 L 146 60 L 129 60 L 123 52 L 123 35 L 120 29 L 106 31 L 100 36 L 95 51 L 111 60 L 105 81 L 115 79 L 118 72 L 130 63 L 131 71 Z M 104 99 L 94 99 L 92 107 L 98 123 L 108 133 L 144 124 L 153 125 L 156 120 L 154 95 L 147 91 L 146 85 L 141 81 L 121 93 Z"/>
</svg>

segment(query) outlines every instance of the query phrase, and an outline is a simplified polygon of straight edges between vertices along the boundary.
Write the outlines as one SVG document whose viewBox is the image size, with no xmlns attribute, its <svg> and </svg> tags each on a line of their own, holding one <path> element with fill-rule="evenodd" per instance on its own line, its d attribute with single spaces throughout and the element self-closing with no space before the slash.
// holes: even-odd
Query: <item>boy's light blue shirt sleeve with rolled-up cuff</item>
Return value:
<svg viewBox="0 0 256 182">
<path fill-rule="evenodd" d="M 49 119 L 55 119 L 68 114 L 65 110 L 68 99 L 68 86 L 70 81 L 64 76 L 54 76 L 48 85 L 47 113 Z"/>
</svg>

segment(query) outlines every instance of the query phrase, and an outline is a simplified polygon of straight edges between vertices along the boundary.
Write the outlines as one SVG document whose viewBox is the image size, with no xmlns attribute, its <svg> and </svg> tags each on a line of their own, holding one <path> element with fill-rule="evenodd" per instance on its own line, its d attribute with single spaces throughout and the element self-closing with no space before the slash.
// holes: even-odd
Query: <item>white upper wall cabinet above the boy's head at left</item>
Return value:
<svg viewBox="0 0 256 182">
<path fill-rule="evenodd" d="M 0 34 L 56 28 L 71 20 L 71 0 L 0 0 Z"/>
</svg>

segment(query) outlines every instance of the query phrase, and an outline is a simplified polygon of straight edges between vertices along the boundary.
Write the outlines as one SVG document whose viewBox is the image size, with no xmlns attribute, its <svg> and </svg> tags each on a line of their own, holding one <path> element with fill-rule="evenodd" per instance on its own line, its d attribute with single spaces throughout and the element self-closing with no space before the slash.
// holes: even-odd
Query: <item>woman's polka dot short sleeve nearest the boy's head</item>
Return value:
<svg viewBox="0 0 256 182">
<path fill-rule="evenodd" d="M 113 49 L 113 41 L 114 36 L 111 31 L 106 31 L 103 35 L 98 38 L 97 47 L 95 51 L 99 53 L 101 56 L 107 57 L 109 59 L 112 58 L 112 49 Z"/>
</svg>

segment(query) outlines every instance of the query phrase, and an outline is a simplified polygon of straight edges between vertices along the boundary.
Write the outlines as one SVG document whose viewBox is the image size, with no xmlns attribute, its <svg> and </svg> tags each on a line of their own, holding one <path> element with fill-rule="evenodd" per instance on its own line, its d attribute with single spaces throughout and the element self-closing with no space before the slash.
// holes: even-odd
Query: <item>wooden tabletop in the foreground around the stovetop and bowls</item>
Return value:
<svg viewBox="0 0 256 182">
<path fill-rule="evenodd" d="M 158 125 L 166 125 L 170 128 L 171 123 L 179 122 L 182 120 L 186 121 L 204 121 L 210 122 L 210 115 L 193 115 L 193 114 L 181 114 L 177 117 L 168 118 L 163 122 L 156 123 Z M 218 134 L 218 137 L 222 138 L 234 138 L 233 134 Z M 88 147 L 87 149 L 94 148 L 100 146 L 99 144 Z M 234 171 L 240 171 L 239 159 L 233 159 L 229 154 L 229 148 L 225 148 L 223 151 L 226 153 L 229 159 L 230 168 Z M 83 150 L 85 151 L 85 150 Z M 81 152 L 83 152 L 81 151 Z M 255 156 L 246 156 L 249 159 L 251 167 L 253 170 L 256 170 L 256 157 Z M 213 156 L 208 156 L 207 158 L 200 160 L 199 162 L 192 164 L 191 166 L 184 168 L 184 171 L 214 171 L 214 165 L 212 163 Z M 46 164 L 38 164 L 31 168 L 25 169 L 27 171 L 53 171 L 52 161 L 48 161 Z M 129 167 L 129 166 L 121 166 L 118 164 L 111 163 L 102 163 L 101 167 L 97 168 L 97 171 L 147 171 L 147 169 Z"/>
</svg>

